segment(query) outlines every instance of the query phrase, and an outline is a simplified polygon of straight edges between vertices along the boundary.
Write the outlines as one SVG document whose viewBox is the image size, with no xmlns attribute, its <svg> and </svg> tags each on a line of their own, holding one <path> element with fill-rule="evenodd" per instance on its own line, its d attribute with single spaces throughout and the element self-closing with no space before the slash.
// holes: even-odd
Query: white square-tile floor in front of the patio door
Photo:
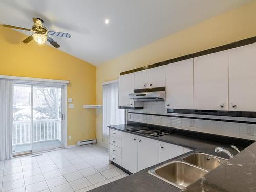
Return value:
<svg viewBox="0 0 256 192">
<path fill-rule="evenodd" d="M 89 191 L 127 176 L 99 145 L 0 161 L 0 192 Z"/>
</svg>

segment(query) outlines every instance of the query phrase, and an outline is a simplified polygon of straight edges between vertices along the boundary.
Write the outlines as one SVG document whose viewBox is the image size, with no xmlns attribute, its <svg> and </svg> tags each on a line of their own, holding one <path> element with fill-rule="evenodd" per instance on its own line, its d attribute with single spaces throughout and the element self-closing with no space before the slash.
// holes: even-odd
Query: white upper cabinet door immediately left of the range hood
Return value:
<svg viewBox="0 0 256 192">
<path fill-rule="evenodd" d="M 134 73 L 119 76 L 118 83 L 118 104 L 119 106 L 133 107 L 134 100 L 129 99 L 129 94 L 134 93 Z"/>
</svg>

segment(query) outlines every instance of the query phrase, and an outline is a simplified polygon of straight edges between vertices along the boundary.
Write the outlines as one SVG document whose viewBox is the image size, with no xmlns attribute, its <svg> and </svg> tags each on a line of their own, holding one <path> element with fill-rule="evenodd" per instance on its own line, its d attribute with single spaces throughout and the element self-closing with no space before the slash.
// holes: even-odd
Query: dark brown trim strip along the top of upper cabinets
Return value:
<svg viewBox="0 0 256 192">
<path fill-rule="evenodd" d="M 129 73 L 134 73 L 136 71 L 142 71 L 142 70 L 145 70 L 145 69 L 150 69 L 150 68 L 155 68 L 155 67 L 159 67 L 159 66 L 163 66 L 163 65 L 168 65 L 168 64 L 173 63 L 173 62 L 178 62 L 178 61 L 182 61 L 182 60 L 186 60 L 186 59 L 190 59 L 190 58 L 194 58 L 194 57 L 199 57 L 199 56 L 202 56 L 202 55 L 208 55 L 208 54 L 211 54 L 211 53 L 216 53 L 216 52 L 224 51 L 224 50 L 227 50 L 227 49 L 232 49 L 232 48 L 236 48 L 236 47 L 245 46 L 245 45 L 248 45 L 248 44 L 253 44 L 254 42 L 256 42 L 256 36 L 251 37 L 251 38 L 247 38 L 247 39 L 243 39 L 243 40 L 240 40 L 240 41 L 237 41 L 237 42 L 231 42 L 231 44 L 226 44 L 226 45 L 223 45 L 223 46 L 207 49 L 207 50 L 204 50 L 204 51 L 199 51 L 199 52 L 192 53 L 192 54 L 189 54 L 189 55 L 184 55 L 184 56 L 181 56 L 181 57 L 177 57 L 177 58 L 169 59 L 169 60 L 166 60 L 166 61 L 154 63 L 152 65 L 132 69 L 132 70 L 129 70 L 129 71 L 124 71 L 124 72 L 121 72 L 120 75 L 125 75 L 125 74 L 129 74 Z"/>
</svg>

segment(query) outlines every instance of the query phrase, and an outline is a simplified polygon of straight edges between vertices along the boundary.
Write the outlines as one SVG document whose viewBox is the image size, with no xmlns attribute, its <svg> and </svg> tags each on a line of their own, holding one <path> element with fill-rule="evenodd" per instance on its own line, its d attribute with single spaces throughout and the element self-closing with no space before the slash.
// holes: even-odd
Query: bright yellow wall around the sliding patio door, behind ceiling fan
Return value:
<svg viewBox="0 0 256 192">
<path fill-rule="evenodd" d="M 47 45 L 23 44 L 25 38 L 0 26 L 0 75 L 69 80 L 67 97 L 73 98 L 74 109 L 67 109 L 68 145 L 95 138 L 96 111 L 82 105 L 96 103 L 96 67 Z"/>
</svg>

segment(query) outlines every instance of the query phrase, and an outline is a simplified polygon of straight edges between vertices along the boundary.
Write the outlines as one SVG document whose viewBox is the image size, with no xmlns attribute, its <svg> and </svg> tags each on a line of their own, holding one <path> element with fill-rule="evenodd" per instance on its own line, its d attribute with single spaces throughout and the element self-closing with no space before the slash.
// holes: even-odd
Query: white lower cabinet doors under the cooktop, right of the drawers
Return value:
<svg viewBox="0 0 256 192">
<path fill-rule="evenodd" d="M 111 148 L 112 151 L 114 147 Z M 181 146 L 125 132 L 122 133 L 121 150 L 121 166 L 131 173 L 183 154 Z M 110 152 L 113 153 L 112 151 Z"/>
</svg>

